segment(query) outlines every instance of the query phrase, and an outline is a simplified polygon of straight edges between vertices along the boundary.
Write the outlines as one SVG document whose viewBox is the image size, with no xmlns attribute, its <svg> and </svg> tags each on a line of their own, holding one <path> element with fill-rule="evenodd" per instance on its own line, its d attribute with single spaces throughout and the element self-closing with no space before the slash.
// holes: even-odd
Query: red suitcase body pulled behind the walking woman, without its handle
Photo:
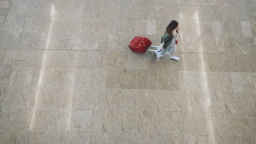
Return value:
<svg viewBox="0 0 256 144">
<path fill-rule="evenodd" d="M 129 43 L 129 48 L 133 52 L 145 53 L 151 44 L 152 43 L 148 38 L 135 36 Z"/>
</svg>

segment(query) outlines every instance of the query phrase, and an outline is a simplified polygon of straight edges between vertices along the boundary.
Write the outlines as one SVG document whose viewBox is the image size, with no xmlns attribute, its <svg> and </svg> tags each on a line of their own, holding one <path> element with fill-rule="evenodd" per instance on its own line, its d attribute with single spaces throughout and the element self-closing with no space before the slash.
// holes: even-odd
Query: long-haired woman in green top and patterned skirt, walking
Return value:
<svg viewBox="0 0 256 144">
<path fill-rule="evenodd" d="M 176 20 L 172 20 L 166 27 L 164 36 L 161 39 L 160 52 L 155 52 L 157 58 L 164 56 L 165 54 L 171 55 L 171 59 L 179 60 L 177 56 L 174 56 L 176 52 L 177 36 L 179 30 L 179 23 Z"/>
</svg>

